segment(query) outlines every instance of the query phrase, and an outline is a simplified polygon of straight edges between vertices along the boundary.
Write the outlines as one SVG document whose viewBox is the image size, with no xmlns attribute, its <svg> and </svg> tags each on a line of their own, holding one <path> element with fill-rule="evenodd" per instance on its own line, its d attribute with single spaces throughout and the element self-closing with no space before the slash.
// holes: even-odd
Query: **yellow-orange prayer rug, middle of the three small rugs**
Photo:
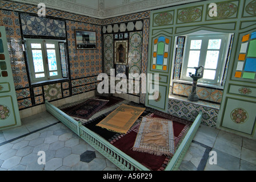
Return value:
<svg viewBox="0 0 256 182">
<path fill-rule="evenodd" d="M 97 126 L 117 133 L 127 133 L 146 108 L 122 104 L 103 119 Z"/>
</svg>

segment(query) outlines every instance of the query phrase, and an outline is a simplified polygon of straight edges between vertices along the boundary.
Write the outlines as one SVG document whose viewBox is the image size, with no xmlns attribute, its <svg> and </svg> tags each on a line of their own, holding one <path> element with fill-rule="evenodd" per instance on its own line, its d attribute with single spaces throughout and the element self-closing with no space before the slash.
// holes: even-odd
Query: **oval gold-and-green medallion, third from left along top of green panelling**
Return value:
<svg viewBox="0 0 256 182">
<path fill-rule="evenodd" d="M 237 5 L 231 2 L 217 3 L 217 16 L 213 16 L 213 19 L 226 19 L 237 13 Z M 210 9 L 209 9 L 210 11 Z M 208 12 L 209 14 L 209 12 Z"/>
</svg>

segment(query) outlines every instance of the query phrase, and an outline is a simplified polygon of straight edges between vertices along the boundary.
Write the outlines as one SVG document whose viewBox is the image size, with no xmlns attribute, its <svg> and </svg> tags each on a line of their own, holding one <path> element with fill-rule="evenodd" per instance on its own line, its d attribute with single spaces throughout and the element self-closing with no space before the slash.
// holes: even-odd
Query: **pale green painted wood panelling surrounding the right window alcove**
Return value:
<svg viewBox="0 0 256 182">
<path fill-rule="evenodd" d="M 209 7 L 210 3 L 215 3 L 217 5 L 217 16 L 211 17 L 209 15 L 209 12 L 211 10 L 211 7 Z M 230 109 L 230 105 L 226 105 L 225 101 L 227 97 L 234 97 L 234 94 L 236 94 L 235 98 L 233 98 L 234 102 L 236 102 L 238 105 L 239 103 L 245 104 L 247 102 L 248 106 L 255 106 L 256 103 L 255 97 L 253 95 L 247 95 L 243 96 L 242 94 L 237 94 L 234 92 L 230 92 L 230 84 L 233 85 L 241 85 L 241 86 L 247 86 L 247 87 L 255 87 L 256 78 L 253 79 L 246 79 L 246 78 L 237 78 L 234 77 L 235 69 L 237 68 L 237 61 L 239 57 L 239 49 L 241 46 L 241 40 L 242 37 L 246 34 L 251 34 L 252 32 L 256 31 L 256 13 L 253 11 L 253 7 L 256 6 L 255 0 L 241 0 L 241 1 L 221 1 L 221 0 L 214 0 L 214 1 L 201 1 L 201 2 L 195 2 L 195 3 L 188 3 L 186 5 L 179 5 L 175 7 L 167 7 L 165 9 L 159 9 L 151 11 L 150 14 L 150 34 L 149 34 L 149 51 L 148 51 L 148 69 L 147 73 L 161 73 L 161 76 L 167 77 L 166 84 L 161 84 L 161 89 L 165 90 L 165 102 L 161 102 L 161 106 L 159 106 L 158 103 L 154 103 L 152 101 L 147 101 L 147 97 L 149 95 L 146 95 L 146 105 L 149 105 L 150 107 L 154 107 L 155 109 L 162 108 L 160 110 L 167 112 L 167 102 L 169 100 L 169 87 L 170 87 L 170 81 L 171 81 L 171 75 L 173 74 L 174 68 L 171 67 L 173 65 L 173 53 L 175 51 L 174 48 L 174 40 L 175 36 L 182 36 L 189 34 L 194 31 L 199 30 L 208 30 L 208 31 L 216 31 L 216 32 L 226 32 L 226 33 L 233 33 L 233 44 L 230 52 L 230 62 L 229 62 L 229 68 L 226 75 L 226 84 L 224 85 L 223 89 L 223 97 L 222 97 L 222 103 L 221 103 L 221 109 L 219 110 L 218 114 L 218 121 L 217 121 L 217 127 L 222 130 L 229 130 L 230 132 L 234 132 L 235 134 L 241 134 L 248 137 L 249 133 L 251 138 L 256 138 L 254 133 L 251 133 L 251 131 L 254 130 L 254 124 L 250 125 L 250 129 L 247 131 L 243 130 L 234 130 L 233 128 L 235 125 L 226 125 L 225 121 L 223 121 L 223 117 L 227 117 L 226 109 Z M 171 15 L 173 16 L 173 19 L 168 21 L 168 18 L 170 16 L 164 17 L 163 20 L 161 20 L 161 24 L 156 24 L 154 22 L 155 17 L 157 15 L 163 13 L 163 12 L 171 12 Z M 186 14 L 185 14 L 186 13 Z M 165 19 L 166 18 L 166 19 Z M 169 19 L 170 20 L 170 19 Z M 169 22 L 169 23 L 164 23 Z M 171 30 L 171 31 L 166 31 Z M 169 48 L 169 59 L 168 59 L 168 69 L 166 72 L 157 71 L 156 69 L 152 69 L 152 56 L 153 56 L 153 43 L 154 38 L 157 38 L 157 36 L 165 35 L 170 39 L 170 48 Z M 150 83 L 149 83 L 150 84 Z M 162 90 L 159 90 L 159 92 L 164 93 Z M 162 96 L 163 97 L 163 96 Z M 246 105 L 246 104 L 245 104 Z M 254 107 L 255 108 L 255 107 Z M 230 117 L 230 113 L 227 113 Z M 249 117 L 254 117 L 254 115 L 250 115 Z M 223 124 L 222 127 L 221 123 Z M 233 124 L 233 123 L 232 123 Z M 235 124 L 235 123 L 234 123 Z"/>
</svg>

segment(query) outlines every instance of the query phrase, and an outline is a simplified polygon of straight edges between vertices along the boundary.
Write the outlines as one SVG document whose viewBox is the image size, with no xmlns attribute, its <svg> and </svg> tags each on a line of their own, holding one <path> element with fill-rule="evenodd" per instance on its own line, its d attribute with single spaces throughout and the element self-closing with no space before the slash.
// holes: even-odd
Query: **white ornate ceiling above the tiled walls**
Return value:
<svg viewBox="0 0 256 182">
<path fill-rule="evenodd" d="M 202 0 L 13 0 L 37 5 L 45 3 L 46 9 L 57 9 L 105 19 L 161 7 L 181 5 Z"/>
</svg>

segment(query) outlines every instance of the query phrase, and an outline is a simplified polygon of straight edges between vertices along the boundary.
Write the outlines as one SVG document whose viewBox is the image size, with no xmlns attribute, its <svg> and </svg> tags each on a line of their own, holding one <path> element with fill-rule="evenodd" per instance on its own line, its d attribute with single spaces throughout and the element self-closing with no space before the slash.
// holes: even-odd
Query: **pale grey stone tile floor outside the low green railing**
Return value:
<svg viewBox="0 0 256 182">
<path fill-rule="evenodd" d="M 45 151 L 46 163 L 38 164 Z M 210 151 L 217 164 L 210 164 Z M 82 157 L 83 156 L 83 157 Z M 201 126 L 181 171 L 256 170 L 256 141 Z M 0 171 L 119 170 L 47 111 L 22 119 L 22 126 L 0 131 Z"/>
</svg>

